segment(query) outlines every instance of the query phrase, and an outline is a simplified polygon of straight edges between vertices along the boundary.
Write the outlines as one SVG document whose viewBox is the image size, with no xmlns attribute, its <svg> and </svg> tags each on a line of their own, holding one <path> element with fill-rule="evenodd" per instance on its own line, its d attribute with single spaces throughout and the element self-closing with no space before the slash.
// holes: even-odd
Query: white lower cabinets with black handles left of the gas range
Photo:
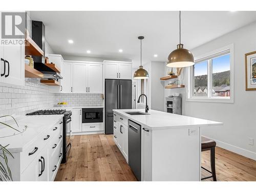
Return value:
<svg viewBox="0 0 256 192">
<path fill-rule="evenodd" d="M 40 134 L 23 152 L 12 153 L 14 159 L 8 158 L 14 181 L 53 181 L 55 179 L 62 160 L 61 121 L 62 118 Z"/>
</svg>

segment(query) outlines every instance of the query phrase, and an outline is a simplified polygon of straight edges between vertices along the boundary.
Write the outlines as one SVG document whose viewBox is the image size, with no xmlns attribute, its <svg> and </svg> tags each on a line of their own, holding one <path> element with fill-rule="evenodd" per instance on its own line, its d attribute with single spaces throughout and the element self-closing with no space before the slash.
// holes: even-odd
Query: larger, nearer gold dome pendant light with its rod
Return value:
<svg viewBox="0 0 256 192">
<path fill-rule="evenodd" d="M 191 51 L 184 49 L 183 44 L 181 44 L 180 42 L 180 44 L 177 45 L 177 49 L 169 54 L 166 66 L 174 68 L 183 68 L 193 66 L 194 64 L 195 59 L 193 54 L 191 53 Z"/>
</svg>

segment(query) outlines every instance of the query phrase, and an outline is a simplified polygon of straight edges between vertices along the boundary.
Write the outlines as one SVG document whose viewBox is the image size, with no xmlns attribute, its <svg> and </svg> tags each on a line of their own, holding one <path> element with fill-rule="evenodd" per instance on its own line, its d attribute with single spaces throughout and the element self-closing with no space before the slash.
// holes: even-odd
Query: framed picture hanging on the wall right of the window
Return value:
<svg viewBox="0 0 256 192">
<path fill-rule="evenodd" d="M 256 51 L 245 54 L 245 90 L 256 90 Z"/>
</svg>

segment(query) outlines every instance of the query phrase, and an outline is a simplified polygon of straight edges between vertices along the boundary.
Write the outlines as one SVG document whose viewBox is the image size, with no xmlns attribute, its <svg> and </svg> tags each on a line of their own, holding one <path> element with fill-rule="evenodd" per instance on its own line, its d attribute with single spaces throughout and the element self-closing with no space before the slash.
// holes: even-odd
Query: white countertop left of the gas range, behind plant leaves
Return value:
<svg viewBox="0 0 256 192">
<path fill-rule="evenodd" d="M 18 127 L 14 121 L 6 121 L 5 123 L 8 123 L 19 131 L 22 131 L 25 125 L 27 126 L 27 129 L 22 134 L 19 134 L 19 132 L 14 131 L 10 127 L 1 125 L 0 144 L 3 146 L 9 144 L 7 148 L 12 153 L 22 152 L 37 139 L 37 136 L 45 130 L 50 129 L 51 126 L 56 124 L 62 118 L 63 115 L 20 116 L 16 118 L 19 125 Z M 17 135 L 14 135 L 14 133 Z"/>
</svg>

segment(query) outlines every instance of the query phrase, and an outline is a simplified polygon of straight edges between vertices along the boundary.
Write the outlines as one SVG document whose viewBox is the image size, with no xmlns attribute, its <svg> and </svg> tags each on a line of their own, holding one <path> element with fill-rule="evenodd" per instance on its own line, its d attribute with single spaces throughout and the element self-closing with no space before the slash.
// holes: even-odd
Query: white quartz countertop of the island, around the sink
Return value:
<svg viewBox="0 0 256 192">
<path fill-rule="evenodd" d="M 161 111 L 149 110 L 149 115 L 129 115 L 125 112 L 143 112 L 145 109 L 126 109 L 126 110 L 113 110 L 114 112 L 131 119 L 138 124 L 146 126 L 148 129 L 177 129 L 186 127 L 203 127 L 203 126 L 217 126 L 223 125 L 221 122 L 199 119 L 184 115 L 177 115 Z"/>
</svg>

